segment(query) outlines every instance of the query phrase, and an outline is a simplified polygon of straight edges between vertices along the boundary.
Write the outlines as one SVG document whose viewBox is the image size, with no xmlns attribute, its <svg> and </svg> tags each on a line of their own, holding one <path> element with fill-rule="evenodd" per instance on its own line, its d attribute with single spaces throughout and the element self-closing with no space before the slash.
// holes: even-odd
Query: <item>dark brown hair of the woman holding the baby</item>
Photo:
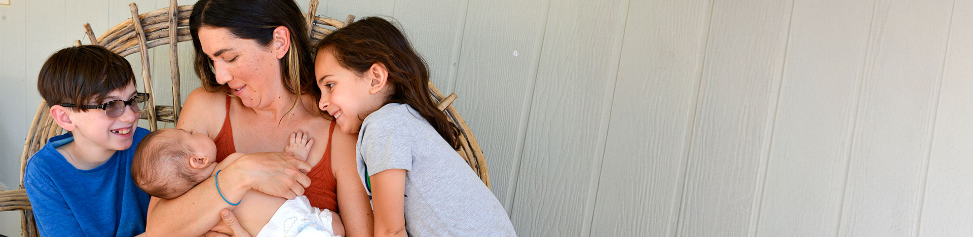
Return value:
<svg viewBox="0 0 973 237">
<path fill-rule="evenodd" d="M 196 49 L 196 74 L 208 91 L 229 91 L 213 75 L 213 62 L 202 51 L 200 27 L 221 27 L 234 37 L 255 40 L 261 46 L 270 45 L 273 29 L 284 26 L 290 30 L 290 49 L 280 58 L 281 84 L 294 94 L 294 106 L 301 94 L 319 97 L 311 72 L 313 55 L 308 47 L 307 25 L 301 9 L 294 0 L 199 0 L 189 17 L 190 34 Z"/>
</svg>

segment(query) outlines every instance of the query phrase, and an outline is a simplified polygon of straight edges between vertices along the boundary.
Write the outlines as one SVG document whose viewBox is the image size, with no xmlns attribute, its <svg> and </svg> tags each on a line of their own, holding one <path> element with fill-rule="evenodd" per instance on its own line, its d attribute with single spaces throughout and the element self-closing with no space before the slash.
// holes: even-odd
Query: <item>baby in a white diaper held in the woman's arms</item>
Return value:
<svg viewBox="0 0 973 237">
<path fill-rule="evenodd" d="M 305 160 L 313 143 L 306 132 L 298 131 L 291 135 L 284 152 Z M 205 134 L 163 128 L 146 135 L 135 149 L 131 176 L 149 195 L 172 199 L 242 155 L 235 152 L 217 163 L 213 158 L 216 144 Z M 250 190 L 234 209 L 234 215 L 243 229 L 251 234 L 258 233 L 257 236 L 344 235 L 341 217 L 327 209 L 310 206 L 306 196 L 288 200 Z"/>
</svg>

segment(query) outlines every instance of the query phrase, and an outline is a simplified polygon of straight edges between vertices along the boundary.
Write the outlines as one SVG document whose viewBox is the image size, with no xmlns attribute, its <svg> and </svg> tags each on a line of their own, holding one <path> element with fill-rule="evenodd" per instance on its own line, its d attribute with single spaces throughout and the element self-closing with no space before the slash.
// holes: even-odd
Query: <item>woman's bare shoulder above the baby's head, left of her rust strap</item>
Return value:
<svg viewBox="0 0 973 237">
<path fill-rule="evenodd" d="M 176 127 L 194 129 L 208 134 L 211 138 L 216 137 L 220 132 L 223 119 L 226 119 L 226 96 L 226 93 L 207 91 L 202 87 L 194 89 L 186 97 Z"/>
</svg>

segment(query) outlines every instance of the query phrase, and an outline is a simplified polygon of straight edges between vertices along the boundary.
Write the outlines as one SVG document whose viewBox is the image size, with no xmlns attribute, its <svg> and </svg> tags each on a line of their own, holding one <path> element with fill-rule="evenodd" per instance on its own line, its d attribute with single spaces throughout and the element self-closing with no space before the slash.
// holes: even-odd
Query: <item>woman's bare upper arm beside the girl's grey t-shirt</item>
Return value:
<svg viewBox="0 0 973 237">
<path fill-rule="evenodd" d="M 335 129 L 331 137 L 331 170 L 338 182 L 338 209 L 349 237 L 375 235 L 372 205 L 355 163 L 357 138 L 357 134 L 345 134 L 340 129 Z"/>
</svg>

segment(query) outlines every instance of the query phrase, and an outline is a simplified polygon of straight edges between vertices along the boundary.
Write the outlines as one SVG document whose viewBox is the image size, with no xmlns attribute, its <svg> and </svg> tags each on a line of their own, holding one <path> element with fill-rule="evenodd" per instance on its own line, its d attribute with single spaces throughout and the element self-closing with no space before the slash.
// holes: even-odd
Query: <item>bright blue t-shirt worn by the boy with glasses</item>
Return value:
<svg viewBox="0 0 973 237">
<path fill-rule="evenodd" d="M 90 170 L 79 170 L 55 148 L 74 141 L 55 136 L 31 156 L 23 186 L 41 236 L 125 236 L 145 232 L 149 194 L 131 180 L 135 147 L 149 133 L 136 128 L 131 147 Z"/>
</svg>

